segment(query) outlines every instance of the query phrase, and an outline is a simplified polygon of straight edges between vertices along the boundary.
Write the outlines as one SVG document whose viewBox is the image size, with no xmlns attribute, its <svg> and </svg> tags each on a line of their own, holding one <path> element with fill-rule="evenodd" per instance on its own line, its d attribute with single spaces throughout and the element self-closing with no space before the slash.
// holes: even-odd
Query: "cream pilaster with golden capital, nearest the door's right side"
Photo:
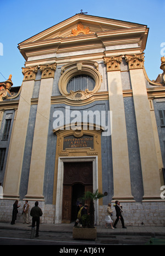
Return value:
<svg viewBox="0 0 165 256">
<path fill-rule="evenodd" d="M 133 201 L 120 63 L 122 57 L 104 57 L 107 66 L 109 108 L 112 111 L 113 200 Z"/>
</svg>

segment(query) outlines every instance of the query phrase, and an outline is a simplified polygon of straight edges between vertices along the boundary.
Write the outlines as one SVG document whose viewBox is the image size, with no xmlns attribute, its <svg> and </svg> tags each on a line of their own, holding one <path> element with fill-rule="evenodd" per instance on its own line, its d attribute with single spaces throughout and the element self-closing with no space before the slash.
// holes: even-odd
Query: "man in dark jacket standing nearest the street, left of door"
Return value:
<svg viewBox="0 0 165 256">
<path fill-rule="evenodd" d="M 31 208 L 30 216 L 32 216 L 32 228 L 36 223 L 36 237 L 38 237 L 38 231 L 40 226 L 40 217 L 42 216 L 42 210 L 38 207 L 38 201 L 35 202 L 35 206 Z"/>
</svg>

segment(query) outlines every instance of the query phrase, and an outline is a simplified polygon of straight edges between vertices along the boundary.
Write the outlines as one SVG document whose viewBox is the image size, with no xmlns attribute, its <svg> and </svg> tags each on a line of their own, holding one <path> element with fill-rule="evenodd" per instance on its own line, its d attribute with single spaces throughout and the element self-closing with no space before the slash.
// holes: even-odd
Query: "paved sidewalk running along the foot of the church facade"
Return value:
<svg viewBox="0 0 165 256">
<path fill-rule="evenodd" d="M 54 233 L 72 233 L 74 222 L 71 224 L 40 224 L 40 232 L 54 232 Z M 97 236 L 103 235 L 129 235 L 129 236 L 162 236 L 165 237 L 165 227 L 136 227 L 128 226 L 127 228 L 117 227 L 114 230 L 109 226 L 96 226 Z M 29 230 L 31 231 L 31 224 L 22 224 L 15 222 L 15 225 L 0 222 L 0 229 L 12 230 Z"/>
</svg>

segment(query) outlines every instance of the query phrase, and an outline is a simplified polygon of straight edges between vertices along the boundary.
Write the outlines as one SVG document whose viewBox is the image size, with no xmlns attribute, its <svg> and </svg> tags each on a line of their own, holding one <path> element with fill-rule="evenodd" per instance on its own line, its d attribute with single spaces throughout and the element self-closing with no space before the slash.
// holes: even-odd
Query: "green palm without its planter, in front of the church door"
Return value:
<svg viewBox="0 0 165 256">
<path fill-rule="evenodd" d="M 89 210 L 89 227 L 94 227 L 95 225 L 95 207 L 94 207 L 94 200 L 98 200 L 104 197 L 104 195 L 98 192 L 98 189 L 95 193 L 90 191 L 86 191 L 84 195 L 84 200 L 90 200 L 90 210 Z"/>
</svg>

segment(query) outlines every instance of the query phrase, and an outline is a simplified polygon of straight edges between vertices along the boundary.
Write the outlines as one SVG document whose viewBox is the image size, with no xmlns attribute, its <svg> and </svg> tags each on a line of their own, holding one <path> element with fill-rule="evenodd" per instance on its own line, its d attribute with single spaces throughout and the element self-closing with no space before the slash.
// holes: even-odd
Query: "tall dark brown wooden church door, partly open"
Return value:
<svg viewBox="0 0 165 256">
<path fill-rule="evenodd" d="M 63 223 L 76 220 L 76 206 L 86 191 L 93 191 L 92 162 L 64 162 Z"/>
</svg>

